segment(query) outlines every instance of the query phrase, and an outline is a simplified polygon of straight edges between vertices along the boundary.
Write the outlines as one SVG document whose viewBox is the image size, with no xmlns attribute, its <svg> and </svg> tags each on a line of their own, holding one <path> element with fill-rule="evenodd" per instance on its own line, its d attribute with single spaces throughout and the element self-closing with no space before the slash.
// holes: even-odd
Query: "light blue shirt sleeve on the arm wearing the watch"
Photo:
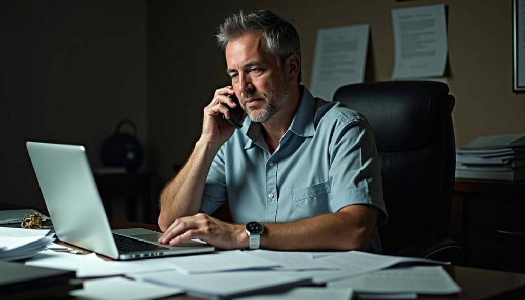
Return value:
<svg viewBox="0 0 525 300">
<path fill-rule="evenodd" d="M 381 165 L 372 130 L 361 119 L 343 122 L 330 142 L 330 208 L 337 212 L 352 204 L 374 205 L 379 212 L 377 227 L 386 223 Z"/>
</svg>

